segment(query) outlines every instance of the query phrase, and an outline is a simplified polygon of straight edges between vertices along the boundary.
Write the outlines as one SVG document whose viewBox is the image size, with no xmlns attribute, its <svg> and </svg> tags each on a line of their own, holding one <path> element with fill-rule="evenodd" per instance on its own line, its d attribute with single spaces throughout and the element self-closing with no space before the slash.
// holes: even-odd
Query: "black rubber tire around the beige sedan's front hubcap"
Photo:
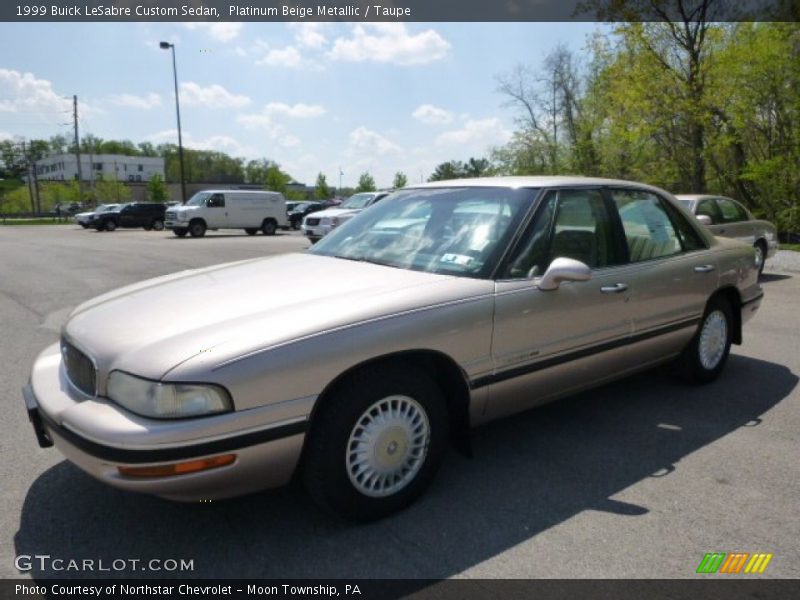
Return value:
<svg viewBox="0 0 800 600">
<path fill-rule="evenodd" d="M 398 399 L 390 399 L 393 396 Z M 349 470 L 355 471 L 357 467 L 349 465 L 348 460 L 359 456 L 358 453 L 348 452 L 356 444 L 351 442 L 351 434 L 355 434 L 359 422 L 367 418 L 371 411 L 374 415 L 374 411 L 380 411 L 380 406 L 385 407 L 387 402 L 408 402 L 409 399 L 413 401 L 416 414 L 419 416 L 424 413 L 427 419 L 426 449 L 420 450 L 421 457 L 416 461 L 408 452 L 404 452 L 403 457 L 395 457 L 401 458 L 403 465 L 395 467 L 393 477 L 409 477 L 405 482 L 400 481 L 402 485 L 397 491 L 387 491 L 386 495 L 380 497 L 367 495 L 351 480 Z M 419 418 L 419 423 L 424 423 L 424 419 Z M 359 371 L 324 398 L 314 415 L 303 464 L 306 488 L 320 506 L 345 519 L 368 522 L 390 515 L 416 500 L 433 480 L 447 447 L 447 429 L 443 395 L 427 372 L 403 364 Z M 393 460 L 391 455 L 398 447 L 403 452 L 410 440 L 406 437 L 396 441 L 387 434 L 387 430 L 383 431 L 383 437 L 376 435 L 376 438 L 380 437 L 387 443 L 383 449 L 384 457 Z M 400 431 L 402 437 L 402 428 L 397 427 L 394 431 Z M 365 429 L 362 432 L 367 435 Z M 374 460 L 378 460 L 378 455 L 379 452 L 373 454 Z M 409 461 L 413 462 L 413 467 L 408 466 Z M 406 468 L 410 474 L 403 474 Z M 354 472 L 352 477 L 358 480 L 359 475 Z"/>
</svg>

